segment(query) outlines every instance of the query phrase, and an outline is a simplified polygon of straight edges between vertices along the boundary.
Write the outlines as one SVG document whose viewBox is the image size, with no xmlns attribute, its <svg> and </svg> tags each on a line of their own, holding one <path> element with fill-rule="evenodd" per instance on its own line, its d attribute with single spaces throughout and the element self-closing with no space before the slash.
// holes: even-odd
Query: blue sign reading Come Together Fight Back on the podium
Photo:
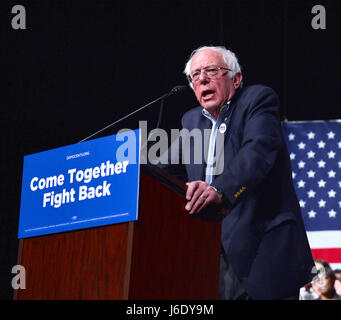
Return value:
<svg viewBox="0 0 341 320">
<path fill-rule="evenodd" d="M 24 157 L 18 238 L 137 220 L 140 130 Z"/>
</svg>

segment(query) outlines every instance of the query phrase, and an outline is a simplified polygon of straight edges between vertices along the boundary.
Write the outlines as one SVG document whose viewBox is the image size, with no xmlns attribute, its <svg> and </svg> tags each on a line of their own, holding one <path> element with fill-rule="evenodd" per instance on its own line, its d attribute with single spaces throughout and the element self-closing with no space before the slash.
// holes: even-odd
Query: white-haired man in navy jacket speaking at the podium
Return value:
<svg viewBox="0 0 341 320">
<path fill-rule="evenodd" d="M 220 299 L 298 299 L 300 287 L 314 276 L 314 262 L 292 183 L 277 95 L 262 85 L 241 88 L 238 60 L 224 47 L 195 50 L 185 74 L 200 106 L 183 116 L 182 125 L 211 129 L 207 162 L 162 167 L 187 182 L 189 214 L 217 205 L 226 209 Z M 223 150 L 215 150 L 218 136 L 224 138 Z M 212 168 L 221 151 L 223 169 L 217 173 Z"/>
</svg>

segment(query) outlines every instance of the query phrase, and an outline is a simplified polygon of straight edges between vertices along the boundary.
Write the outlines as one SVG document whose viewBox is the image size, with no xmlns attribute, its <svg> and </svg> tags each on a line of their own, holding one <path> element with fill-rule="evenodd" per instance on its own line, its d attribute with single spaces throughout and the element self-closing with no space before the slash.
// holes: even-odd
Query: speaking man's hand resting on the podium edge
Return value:
<svg viewBox="0 0 341 320">
<path fill-rule="evenodd" d="M 189 211 L 189 214 L 198 213 L 209 204 L 219 205 L 222 202 L 222 195 L 204 181 L 187 182 L 186 185 L 188 202 L 185 209 Z"/>
</svg>

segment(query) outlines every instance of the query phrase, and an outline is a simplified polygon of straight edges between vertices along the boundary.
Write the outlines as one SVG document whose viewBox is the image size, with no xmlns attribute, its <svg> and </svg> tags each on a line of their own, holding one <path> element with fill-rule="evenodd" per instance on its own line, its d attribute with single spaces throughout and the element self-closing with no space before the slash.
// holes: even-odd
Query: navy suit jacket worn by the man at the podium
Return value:
<svg viewBox="0 0 341 320">
<path fill-rule="evenodd" d="M 189 110 L 183 128 L 211 129 L 202 107 Z M 269 87 L 239 89 L 231 99 L 224 134 L 224 170 L 212 186 L 228 214 L 222 247 L 253 299 L 280 299 L 310 282 L 314 267 L 279 116 Z M 219 134 L 219 133 L 218 133 Z M 193 153 L 193 144 L 186 148 Z M 205 165 L 163 165 L 185 181 L 205 180 Z M 216 212 L 212 212 L 212 218 Z"/>
</svg>

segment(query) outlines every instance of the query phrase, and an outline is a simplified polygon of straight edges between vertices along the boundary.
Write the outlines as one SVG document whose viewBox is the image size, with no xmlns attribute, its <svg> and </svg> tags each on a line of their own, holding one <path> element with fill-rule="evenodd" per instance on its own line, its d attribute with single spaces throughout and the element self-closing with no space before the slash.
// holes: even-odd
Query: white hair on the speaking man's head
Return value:
<svg viewBox="0 0 341 320">
<path fill-rule="evenodd" d="M 241 72 L 241 67 L 239 65 L 238 58 L 231 50 L 228 50 L 222 46 L 219 46 L 219 47 L 204 46 L 204 47 L 200 47 L 198 49 L 195 49 L 191 53 L 188 61 L 186 62 L 186 66 L 185 66 L 185 70 L 184 70 L 184 74 L 186 75 L 186 77 L 189 77 L 189 75 L 190 75 L 191 63 L 192 63 L 192 59 L 193 59 L 194 55 L 196 53 L 202 51 L 202 50 L 207 50 L 207 49 L 219 52 L 221 54 L 221 57 L 223 58 L 223 61 L 226 64 L 226 67 L 232 70 L 232 71 L 229 71 L 229 73 L 228 73 L 230 79 L 233 79 L 237 73 Z M 190 83 L 190 86 L 193 89 L 192 83 Z"/>
</svg>

